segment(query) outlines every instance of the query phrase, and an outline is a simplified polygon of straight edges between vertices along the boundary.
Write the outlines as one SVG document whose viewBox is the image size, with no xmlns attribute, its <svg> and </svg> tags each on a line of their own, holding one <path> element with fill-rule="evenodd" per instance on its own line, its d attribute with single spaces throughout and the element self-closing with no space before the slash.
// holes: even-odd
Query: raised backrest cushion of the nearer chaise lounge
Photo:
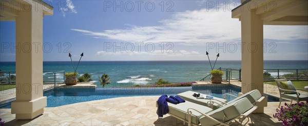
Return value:
<svg viewBox="0 0 308 126">
<path fill-rule="evenodd" d="M 228 103 L 225 106 L 220 107 L 217 110 L 205 113 L 206 115 L 215 118 L 218 121 L 221 122 L 227 122 L 229 120 L 232 120 L 241 114 L 245 113 L 249 109 L 253 107 L 253 104 L 247 99 L 242 98 L 235 102 Z M 194 113 L 192 113 L 194 114 Z M 217 122 L 203 116 L 199 119 L 201 125 L 216 125 Z"/>
</svg>

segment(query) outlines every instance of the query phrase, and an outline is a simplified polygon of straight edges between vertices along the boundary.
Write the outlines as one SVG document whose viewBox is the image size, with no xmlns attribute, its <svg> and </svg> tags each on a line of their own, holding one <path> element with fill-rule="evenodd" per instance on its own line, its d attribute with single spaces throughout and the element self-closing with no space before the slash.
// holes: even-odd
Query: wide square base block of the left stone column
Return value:
<svg viewBox="0 0 308 126">
<path fill-rule="evenodd" d="M 44 113 L 47 106 L 47 97 L 41 97 L 32 101 L 12 102 L 11 113 L 16 114 L 16 119 L 33 119 Z"/>
</svg>

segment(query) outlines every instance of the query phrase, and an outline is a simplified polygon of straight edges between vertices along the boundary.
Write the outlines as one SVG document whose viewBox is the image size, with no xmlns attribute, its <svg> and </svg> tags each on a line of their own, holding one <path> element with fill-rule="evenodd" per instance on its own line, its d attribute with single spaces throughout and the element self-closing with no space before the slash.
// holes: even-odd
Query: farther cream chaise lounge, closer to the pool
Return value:
<svg viewBox="0 0 308 126">
<path fill-rule="evenodd" d="M 178 96 L 180 96 L 182 99 L 186 101 L 194 102 L 194 103 L 201 104 L 201 105 L 206 105 L 212 109 L 218 109 L 221 106 L 235 102 L 241 98 L 247 98 L 253 105 L 256 105 L 256 106 L 264 106 L 263 103 L 261 102 L 265 101 L 264 100 L 265 97 L 261 95 L 258 89 L 254 89 L 253 91 L 250 91 L 240 97 L 237 97 L 231 94 L 223 94 L 224 99 L 216 98 L 216 97 L 214 97 L 214 99 L 197 99 L 191 96 L 191 94 L 194 94 L 194 93 L 199 94 L 197 92 L 187 91 L 187 92 L 178 94 Z M 226 100 L 227 96 L 232 96 L 232 97 L 235 97 L 236 99 L 227 102 Z"/>
</svg>

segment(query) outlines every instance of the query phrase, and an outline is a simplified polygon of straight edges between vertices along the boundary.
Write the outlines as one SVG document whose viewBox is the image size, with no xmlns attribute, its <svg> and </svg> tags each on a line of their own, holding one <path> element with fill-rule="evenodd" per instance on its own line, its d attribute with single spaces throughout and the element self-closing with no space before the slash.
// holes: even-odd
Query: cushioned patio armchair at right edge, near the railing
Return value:
<svg viewBox="0 0 308 126">
<path fill-rule="evenodd" d="M 308 99 L 307 95 L 302 95 L 299 92 L 296 91 L 296 89 L 300 89 L 300 88 L 294 88 L 293 84 L 290 81 L 290 85 L 293 86 L 293 89 L 285 89 L 283 88 L 283 86 L 281 85 L 280 82 L 287 82 L 286 79 L 275 79 L 275 82 L 277 84 L 278 90 L 279 90 L 279 95 L 280 95 L 280 102 L 278 107 L 281 104 L 282 98 L 285 99 L 290 99 L 291 100 L 291 104 L 293 100 L 296 100 L 297 103 L 299 103 L 299 101 L 305 101 Z"/>
</svg>

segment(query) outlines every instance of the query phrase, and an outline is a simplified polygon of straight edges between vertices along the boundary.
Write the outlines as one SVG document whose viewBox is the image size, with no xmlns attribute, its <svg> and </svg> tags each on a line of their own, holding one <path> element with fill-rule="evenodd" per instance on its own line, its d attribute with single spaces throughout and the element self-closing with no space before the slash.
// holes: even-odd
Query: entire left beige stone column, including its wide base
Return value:
<svg viewBox="0 0 308 126">
<path fill-rule="evenodd" d="M 38 3 L 23 3 L 16 17 L 16 119 L 33 119 L 44 113 L 43 9 Z"/>
</svg>

